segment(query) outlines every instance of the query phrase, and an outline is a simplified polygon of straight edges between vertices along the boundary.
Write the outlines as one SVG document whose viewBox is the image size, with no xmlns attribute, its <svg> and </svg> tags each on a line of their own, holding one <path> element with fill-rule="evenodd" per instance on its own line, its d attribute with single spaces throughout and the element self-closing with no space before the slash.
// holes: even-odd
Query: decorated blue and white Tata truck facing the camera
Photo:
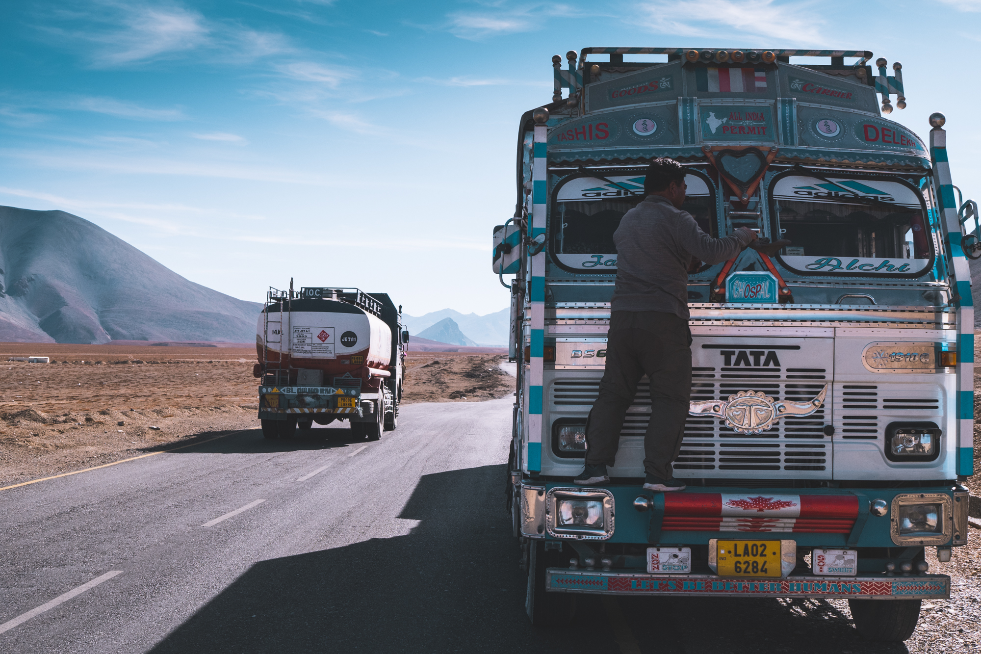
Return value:
<svg viewBox="0 0 981 654">
<path fill-rule="evenodd" d="M 578 593 L 838 598 L 865 636 L 902 640 L 921 600 L 950 597 L 926 551 L 947 562 L 967 541 L 977 210 L 955 197 L 944 116 L 928 142 L 885 118 L 894 98 L 905 107 L 902 66 L 871 57 L 552 58 L 552 102 L 521 117 L 516 209 L 492 253 L 511 293 L 508 500 L 536 625 L 568 620 Z M 646 379 L 611 481 L 576 486 L 612 237 L 655 157 L 686 167 L 684 209 L 706 234 L 791 245 L 690 267 L 692 402 L 674 463 L 687 489 L 642 488 Z"/>
</svg>

